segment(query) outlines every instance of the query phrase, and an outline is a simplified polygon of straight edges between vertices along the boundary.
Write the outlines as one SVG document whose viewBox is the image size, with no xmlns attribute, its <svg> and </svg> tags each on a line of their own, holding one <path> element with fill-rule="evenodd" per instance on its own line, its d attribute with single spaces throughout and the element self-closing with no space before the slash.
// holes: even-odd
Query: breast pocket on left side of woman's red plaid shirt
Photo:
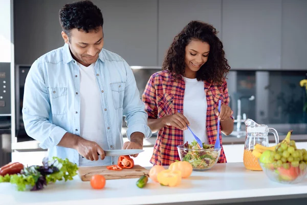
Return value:
<svg viewBox="0 0 307 205">
<path fill-rule="evenodd" d="M 158 94 L 157 95 L 158 115 L 163 117 L 173 114 L 173 96 L 172 94 Z"/>
</svg>

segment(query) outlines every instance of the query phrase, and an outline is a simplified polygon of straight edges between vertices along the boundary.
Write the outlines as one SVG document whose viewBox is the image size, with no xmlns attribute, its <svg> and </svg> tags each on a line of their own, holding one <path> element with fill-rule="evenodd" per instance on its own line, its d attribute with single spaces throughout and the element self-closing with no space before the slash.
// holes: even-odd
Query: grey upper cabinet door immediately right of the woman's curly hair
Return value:
<svg viewBox="0 0 307 205">
<path fill-rule="evenodd" d="M 231 68 L 280 70 L 281 5 L 280 0 L 223 1 L 222 39 Z"/>
</svg>

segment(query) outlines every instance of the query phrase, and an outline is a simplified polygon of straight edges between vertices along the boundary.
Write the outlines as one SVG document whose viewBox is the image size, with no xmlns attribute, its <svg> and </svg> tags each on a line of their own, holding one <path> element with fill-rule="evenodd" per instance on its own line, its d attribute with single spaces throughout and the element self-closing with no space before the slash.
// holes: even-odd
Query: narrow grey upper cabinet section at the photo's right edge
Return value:
<svg viewBox="0 0 307 205">
<path fill-rule="evenodd" d="M 282 1 L 281 69 L 307 70 L 307 1 Z"/>
</svg>

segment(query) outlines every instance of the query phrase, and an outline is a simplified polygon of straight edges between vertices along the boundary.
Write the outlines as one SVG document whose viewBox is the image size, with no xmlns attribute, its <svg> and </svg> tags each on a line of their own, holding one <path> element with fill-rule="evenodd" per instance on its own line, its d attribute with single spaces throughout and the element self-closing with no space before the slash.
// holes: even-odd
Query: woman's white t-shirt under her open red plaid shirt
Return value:
<svg viewBox="0 0 307 205">
<path fill-rule="evenodd" d="M 207 118 L 207 99 L 204 90 L 204 82 L 196 78 L 186 78 L 183 99 L 183 113 L 190 122 L 190 129 L 200 138 L 203 143 L 208 144 L 206 118 Z M 184 130 L 184 143 L 189 144 L 195 139 L 189 129 Z"/>
</svg>

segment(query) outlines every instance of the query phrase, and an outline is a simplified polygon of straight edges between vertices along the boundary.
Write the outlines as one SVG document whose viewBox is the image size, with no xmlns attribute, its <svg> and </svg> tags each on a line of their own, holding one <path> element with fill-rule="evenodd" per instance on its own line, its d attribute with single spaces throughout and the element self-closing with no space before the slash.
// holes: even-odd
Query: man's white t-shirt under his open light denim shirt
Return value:
<svg viewBox="0 0 307 205">
<path fill-rule="evenodd" d="M 95 141 L 103 150 L 108 149 L 106 130 L 100 90 L 94 72 L 95 64 L 80 68 L 80 135 L 84 139 Z M 100 156 L 99 156 L 100 157 Z M 79 166 L 111 165 L 111 157 L 99 158 L 97 161 L 87 160 L 79 155 Z"/>
</svg>

